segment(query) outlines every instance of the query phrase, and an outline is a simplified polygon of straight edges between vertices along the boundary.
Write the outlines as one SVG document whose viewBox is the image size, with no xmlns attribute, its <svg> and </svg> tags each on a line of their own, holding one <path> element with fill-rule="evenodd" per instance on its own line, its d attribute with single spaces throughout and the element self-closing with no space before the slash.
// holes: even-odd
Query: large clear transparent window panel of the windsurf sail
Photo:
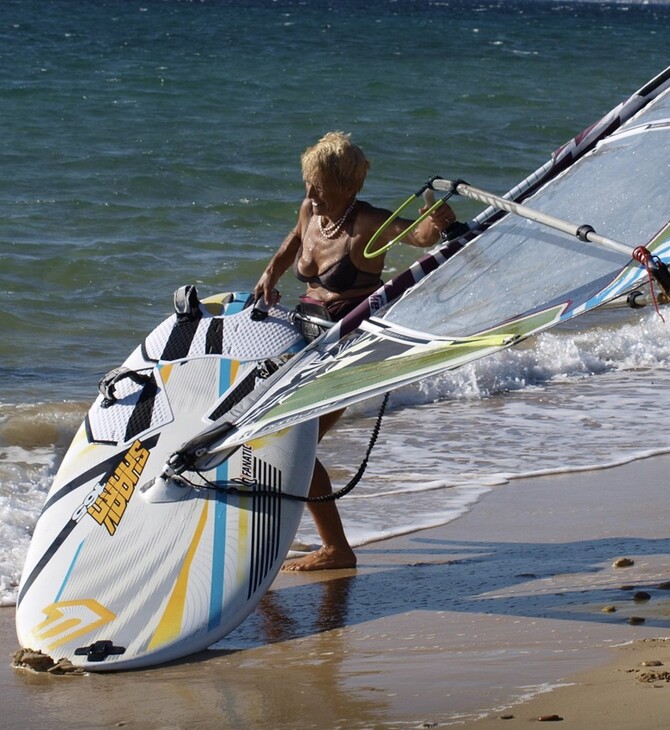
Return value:
<svg viewBox="0 0 670 730">
<path fill-rule="evenodd" d="M 670 92 L 656 103 L 663 107 L 656 116 L 670 116 Z M 629 124 L 639 126 L 639 117 Z M 591 225 L 629 244 L 631 253 L 649 241 L 668 219 L 670 127 L 625 134 L 627 126 L 526 204 Z M 628 260 L 508 214 L 377 316 L 435 336 L 472 335 L 566 292 L 588 294 L 590 282 L 613 278 Z"/>
</svg>

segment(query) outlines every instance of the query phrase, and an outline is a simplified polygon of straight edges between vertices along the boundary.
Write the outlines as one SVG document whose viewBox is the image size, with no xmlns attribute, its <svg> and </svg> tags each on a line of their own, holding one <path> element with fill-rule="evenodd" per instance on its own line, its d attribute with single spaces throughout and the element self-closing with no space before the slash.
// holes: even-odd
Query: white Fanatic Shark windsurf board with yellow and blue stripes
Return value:
<svg viewBox="0 0 670 730">
<path fill-rule="evenodd" d="M 303 512 L 309 422 L 245 444 L 204 474 L 157 479 L 166 460 L 305 342 L 283 308 L 247 295 L 175 294 L 101 394 L 49 490 L 19 586 L 23 648 L 91 671 L 166 662 L 220 640 L 274 580 Z M 239 389 L 238 389 L 239 390 Z"/>
</svg>

